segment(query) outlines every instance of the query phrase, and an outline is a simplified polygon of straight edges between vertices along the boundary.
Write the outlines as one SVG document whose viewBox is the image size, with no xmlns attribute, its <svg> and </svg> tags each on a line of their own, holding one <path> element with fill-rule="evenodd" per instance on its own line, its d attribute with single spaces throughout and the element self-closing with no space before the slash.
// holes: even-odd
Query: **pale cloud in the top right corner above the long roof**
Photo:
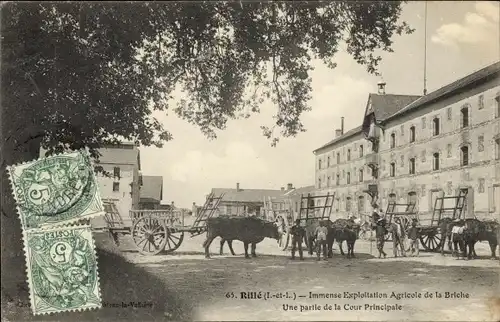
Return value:
<svg viewBox="0 0 500 322">
<path fill-rule="evenodd" d="M 499 8 L 495 2 L 476 2 L 475 11 L 465 14 L 462 23 L 441 25 L 431 40 L 444 46 L 458 48 L 460 43 L 491 45 L 498 43 Z"/>
</svg>

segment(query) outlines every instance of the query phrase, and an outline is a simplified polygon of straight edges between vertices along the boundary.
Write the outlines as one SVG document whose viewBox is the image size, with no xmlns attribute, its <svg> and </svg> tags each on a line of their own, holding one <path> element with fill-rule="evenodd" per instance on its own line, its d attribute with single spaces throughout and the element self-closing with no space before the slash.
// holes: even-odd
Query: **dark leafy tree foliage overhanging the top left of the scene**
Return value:
<svg viewBox="0 0 500 322">
<path fill-rule="evenodd" d="M 311 59 L 334 67 L 344 41 L 376 73 L 402 3 L 8 3 L 2 8 L 2 124 L 11 148 L 34 138 L 49 151 L 119 138 L 161 146 L 152 117 L 172 110 L 215 137 L 270 98 L 274 127 L 304 131 Z M 170 107 L 176 90 L 184 99 Z M 272 129 L 262 127 L 271 137 Z M 273 143 L 276 143 L 276 138 Z"/>
</svg>

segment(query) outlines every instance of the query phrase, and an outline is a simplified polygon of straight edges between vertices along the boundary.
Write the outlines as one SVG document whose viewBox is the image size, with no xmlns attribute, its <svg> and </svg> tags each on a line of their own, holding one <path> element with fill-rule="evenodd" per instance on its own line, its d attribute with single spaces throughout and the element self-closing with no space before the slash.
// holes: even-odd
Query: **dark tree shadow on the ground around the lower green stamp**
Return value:
<svg viewBox="0 0 500 322">
<path fill-rule="evenodd" d="M 106 242 L 97 243 L 103 308 L 85 312 L 34 317 L 29 307 L 28 285 L 19 286 L 17 297 L 2 294 L 2 320 L 6 321 L 146 321 L 191 320 L 192 303 L 147 270 L 125 261 Z M 2 292 L 4 293 L 4 292 Z M 17 303 L 9 299 L 19 298 Z M 136 302 L 142 307 L 133 307 Z M 120 306 L 120 307 L 110 307 Z M 125 306 L 125 307 L 124 307 Z"/>
</svg>

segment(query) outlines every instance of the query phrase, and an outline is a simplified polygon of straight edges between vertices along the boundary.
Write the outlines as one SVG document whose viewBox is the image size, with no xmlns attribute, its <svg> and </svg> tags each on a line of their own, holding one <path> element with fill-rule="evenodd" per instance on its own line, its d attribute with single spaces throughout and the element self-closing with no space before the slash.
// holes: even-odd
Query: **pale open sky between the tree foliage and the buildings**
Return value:
<svg viewBox="0 0 500 322">
<path fill-rule="evenodd" d="M 499 16 L 496 2 L 436 1 L 404 5 L 401 20 L 416 31 L 393 38 L 393 53 L 382 55 L 381 77 L 388 94 L 423 92 L 424 40 L 427 39 L 428 93 L 500 59 Z M 370 92 L 380 77 L 370 75 L 346 52 L 336 56 L 337 68 L 315 61 L 312 111 L 302 115 L 307 132 L 281 138 L 276 147 L 262 135 L 261 125 L 272 125 L 276 106 L 264 103 L 260 114 L 231 120 L 216 140 L 177 118 L 155 114 L 174 139 L 163 148 L 141 147 L 144 175 L 163 176 L 163 203 L 202 204 L 212 188 L 280 189 L 314 184 L 313 150 L 334 138 L 345 118 L 345 131 L 362 122 Z"/>
</svg>

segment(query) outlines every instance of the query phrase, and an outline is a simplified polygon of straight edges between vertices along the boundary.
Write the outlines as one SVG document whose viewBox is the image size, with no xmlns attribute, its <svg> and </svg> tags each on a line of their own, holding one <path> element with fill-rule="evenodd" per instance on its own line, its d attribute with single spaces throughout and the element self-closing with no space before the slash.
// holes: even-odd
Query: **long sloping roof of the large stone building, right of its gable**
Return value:
<svg viewBox="0 0 500 322">
<path fill-rule="evenodd" d="M 392 114 L 388 119 L 392 119 L 398 116 L 401 116 L 409 111 L 416 110 L 420 107 L 423 107 L 427 104 L 433 103 L 435 101 L 444 99 L 450 95 L 455 94 L 457 91 L 462 90 L 467 86 L 471 86 L 477 82 L 484 81 L 485 79 L 494 76 L 500 71 L 500 61 L 489 66 L 486 66 L 472 74 L 469 74 L 463 78 L 460 78 L 457 81 L 454 81 L 446 86 L 443 86 L 425 96 L 422 96 L 420 99 L 414 101 L 411 104 L 408 104 L 406 107 L 401 109 L 400 111 Z"/>
</svg>

